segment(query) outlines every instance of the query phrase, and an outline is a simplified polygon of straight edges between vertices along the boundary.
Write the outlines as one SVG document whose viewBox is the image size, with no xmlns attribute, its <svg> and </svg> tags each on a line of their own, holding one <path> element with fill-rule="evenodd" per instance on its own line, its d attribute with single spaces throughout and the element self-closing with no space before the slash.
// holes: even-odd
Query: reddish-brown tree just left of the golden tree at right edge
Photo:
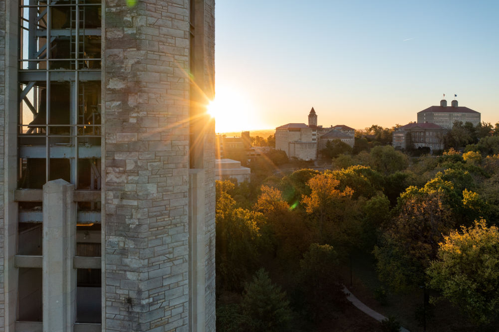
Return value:
<svg viewBox="0 0 499 332">
<path fill-rule="evenodd" d="M 380 279 L 395 291 L 414 289 L 425 282 L 426 269 L 437 257 L 442 234 L 448 234 L 454 226 L 443 191 L 410 192 L 373 252 Z"/>
</svg>

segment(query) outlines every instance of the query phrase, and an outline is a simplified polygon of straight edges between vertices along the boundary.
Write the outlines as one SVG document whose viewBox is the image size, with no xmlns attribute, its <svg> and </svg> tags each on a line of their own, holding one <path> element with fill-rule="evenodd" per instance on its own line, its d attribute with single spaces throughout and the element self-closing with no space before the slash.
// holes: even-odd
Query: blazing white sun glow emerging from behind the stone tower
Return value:
<svg viewBox="0 0 499 332">
<path fill-rule="evenodd" d="M 217 133 L 260 128 L 255 108 L 243 92 L 228 86 L 217 86 L 215 100 L 208 105 L 208 113 L 215 118 Z"/>
</svg>

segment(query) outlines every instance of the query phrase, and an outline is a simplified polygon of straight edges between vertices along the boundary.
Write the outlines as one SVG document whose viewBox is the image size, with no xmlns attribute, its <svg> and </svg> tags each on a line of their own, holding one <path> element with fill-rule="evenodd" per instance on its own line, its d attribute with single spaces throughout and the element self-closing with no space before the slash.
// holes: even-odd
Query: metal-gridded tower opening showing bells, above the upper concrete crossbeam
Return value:
<svg viewBox="0 0 499 332">
<path fill-rule="evenodd" d="M 100 189 L 102 7 L 74 2 L 20 2 L 20 188 L 62 178 Z"/>
</svg>

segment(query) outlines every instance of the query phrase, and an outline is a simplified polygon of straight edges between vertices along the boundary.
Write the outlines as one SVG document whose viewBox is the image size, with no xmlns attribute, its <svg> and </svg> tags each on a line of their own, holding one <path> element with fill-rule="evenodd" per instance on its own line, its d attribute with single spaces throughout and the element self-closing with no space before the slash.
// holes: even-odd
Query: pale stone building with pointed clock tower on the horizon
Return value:
<svg viewBox="0 0 499 332">
<path fill-rule="evenodd" d="M 355 130 L 345 125 L 336 127 L 339 129 L 335 130 L 333 126 L 329 128 L 317 126 L 317 114 L 312 107 L 308 114 L 308 125 L 304 123 L 288 123 L 275 128 L 275 149 L 284 151 L 288 157 L 315 160 L 318 151 L 322 149 L 321 137 L 331 130 L 341 134 L 341 137 L 338 136 L 337 139 L 351 140 L 351 143 L 349 141 L 348 144 L 353 147 Z M 331 134 L 329 137 L 334 135 L 338 134 Z"/>
</svg>

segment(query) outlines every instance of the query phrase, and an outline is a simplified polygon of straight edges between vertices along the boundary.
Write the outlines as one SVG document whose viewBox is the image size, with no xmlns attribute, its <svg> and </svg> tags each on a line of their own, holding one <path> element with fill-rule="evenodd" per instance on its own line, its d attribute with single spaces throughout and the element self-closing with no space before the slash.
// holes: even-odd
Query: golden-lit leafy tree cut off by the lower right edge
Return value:
<svg viewBox="0 0 499 332">
<path fill-rule="evenodd" d="M 499 315 L 499 229 L 485 220 L 453 230 L 428 269 L 430 286 L 468 314 L 475 324 Z"/>
</svg>

